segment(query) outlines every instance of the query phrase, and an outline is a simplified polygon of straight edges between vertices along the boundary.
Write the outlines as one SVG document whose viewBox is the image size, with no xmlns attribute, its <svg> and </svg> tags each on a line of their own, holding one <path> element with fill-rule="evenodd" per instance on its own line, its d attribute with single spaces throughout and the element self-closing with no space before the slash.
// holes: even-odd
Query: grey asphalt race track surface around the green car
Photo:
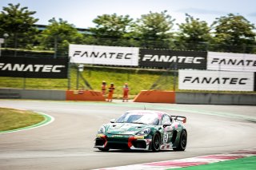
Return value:
<svg viewBox="0 0 256 170">
<path fill-rule="evenodd" d="M 55 118 L 50 125 L 0 134 L 0 169 L 94 169 L 233 152 L 256 146 L 256 107 L 75 101 L 0 100 L 0 107 L 29 109 Z M 98 128 L 131 109 L 187 117 L 185 152 L 131 152 L 94 148 Z"/>
</svg>

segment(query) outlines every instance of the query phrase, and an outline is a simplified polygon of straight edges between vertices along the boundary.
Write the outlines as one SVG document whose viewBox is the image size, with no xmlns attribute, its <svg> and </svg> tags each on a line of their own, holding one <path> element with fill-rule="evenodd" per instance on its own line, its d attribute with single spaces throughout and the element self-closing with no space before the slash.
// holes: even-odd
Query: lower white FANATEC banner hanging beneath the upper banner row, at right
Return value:
<svg viewBox="0 0 256 170">
<path fill-rule="evenodd" d="M 254 73 L 178 70 L 178 89 L 254 91 Z"/>
</svg>

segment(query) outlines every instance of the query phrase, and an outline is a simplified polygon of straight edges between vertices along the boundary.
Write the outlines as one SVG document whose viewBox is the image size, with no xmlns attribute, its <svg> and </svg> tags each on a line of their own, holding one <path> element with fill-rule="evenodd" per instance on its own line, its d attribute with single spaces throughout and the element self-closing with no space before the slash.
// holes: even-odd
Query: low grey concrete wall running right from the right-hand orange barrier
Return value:
<svg viewBox="0 0 256 170">
<path fill-rule="evenodd" d="M 256 94 L 176 92 L 176 103 L 199 105 L 256 105 Z"/>
</svg>

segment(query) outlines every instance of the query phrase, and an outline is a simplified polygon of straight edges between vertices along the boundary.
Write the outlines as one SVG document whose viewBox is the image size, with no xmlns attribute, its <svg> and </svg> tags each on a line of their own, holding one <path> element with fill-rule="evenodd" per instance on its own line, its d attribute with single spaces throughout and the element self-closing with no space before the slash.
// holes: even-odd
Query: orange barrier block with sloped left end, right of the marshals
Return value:
<svg viewBox="0 0 256 170">
<path fill-rule="evenodd" d="M 142 90 L 135 98 L 134 102 L 149 103 L 175 103 L 175 92 L 158 91 L 158 90 Z"/>
</svg>

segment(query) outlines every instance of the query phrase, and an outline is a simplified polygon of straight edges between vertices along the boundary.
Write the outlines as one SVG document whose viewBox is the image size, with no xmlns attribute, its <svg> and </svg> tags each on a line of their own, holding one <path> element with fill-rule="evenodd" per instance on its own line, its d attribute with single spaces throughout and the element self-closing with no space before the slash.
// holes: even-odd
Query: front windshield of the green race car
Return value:
<svg viewBox="0 0 256 170">
<path fill-rule="evenodd" d="M 125 113 L 118 118 L 116 123 L 158 125 L 159 118 L 158 114 L 154 113 Z"/>
</svg>

